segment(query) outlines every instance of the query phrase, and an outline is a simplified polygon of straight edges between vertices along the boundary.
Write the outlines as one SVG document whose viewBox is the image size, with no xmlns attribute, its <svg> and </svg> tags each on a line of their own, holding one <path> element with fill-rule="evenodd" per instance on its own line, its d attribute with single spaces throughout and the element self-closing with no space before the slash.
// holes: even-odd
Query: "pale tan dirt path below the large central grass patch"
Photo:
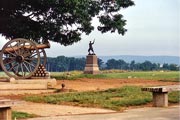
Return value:
<svg viewBox="0 0 180 120">
<path fill-rule="evenodd" d="M 76 115 L 90 113 L 112 113 L 113 110 L 105 110 L 99 108 L 85 108 L 66 105 L 52 105 L 43 103 L 22 102 L 12 108 L 15 111 L 26 112 L 38 116 L 60 116 L 60 115 Z"/>
</svg>

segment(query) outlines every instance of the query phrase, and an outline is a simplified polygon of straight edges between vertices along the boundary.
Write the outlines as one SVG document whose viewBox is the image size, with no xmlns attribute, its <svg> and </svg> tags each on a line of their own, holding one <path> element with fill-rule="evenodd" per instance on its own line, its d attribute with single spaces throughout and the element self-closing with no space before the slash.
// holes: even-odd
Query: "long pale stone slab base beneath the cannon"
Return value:
<svg viewBox="0 0 180 120">
<path fill-rule="evenodd" d="M 47 90 L 55 88 L 56 79 L 20 79 L 10 78 L 9 82 L 1 82 L 0 90 Z M 14 91 L 16 92 L 16 91 Z"/>
</svg>

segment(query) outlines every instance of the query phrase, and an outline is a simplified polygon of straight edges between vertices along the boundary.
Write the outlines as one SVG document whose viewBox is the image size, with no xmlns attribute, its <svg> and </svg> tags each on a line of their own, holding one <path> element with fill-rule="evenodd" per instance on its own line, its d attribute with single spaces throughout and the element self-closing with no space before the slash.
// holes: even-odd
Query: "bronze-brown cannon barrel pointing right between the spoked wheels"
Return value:
<svg viewBox="0 0 180 120">
<path fill-rule="evenodd" d="M 36 47 L 38 49 L 45 49 L 45 48 L 50 48 L 50 43 L 47 42 L 45 44 L 36 44 Z M 29 45 L 24 45 L 24 46 L 13 46 L 13 47 L 7 47 L 4 50 L 5 54 L 9 54 L 9 53 L 14 53 L 15 51 L 17 51 L 18 49 L 29 49 L 29 50 L 35 50 L 34 46 L 29 46 Z M 1 52 L 1 51 L 0 51 Z"/>
</svg>

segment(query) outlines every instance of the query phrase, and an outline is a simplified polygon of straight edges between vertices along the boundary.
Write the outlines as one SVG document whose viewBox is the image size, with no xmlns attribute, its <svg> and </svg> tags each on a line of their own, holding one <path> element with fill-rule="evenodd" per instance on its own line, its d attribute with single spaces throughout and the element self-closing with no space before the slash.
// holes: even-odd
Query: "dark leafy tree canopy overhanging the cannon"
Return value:
<svg viewBox="0 0 180 120">
<path fill-rule="evenodd" d="M 126 20 L 120 10 L 132 5 L 132 0 L 0 0 L 0 34 L 66 46 L 80 41 L 82 33 L 90 34 L 97 16 L 99 31 L 124 35 Z"/>
</svg>

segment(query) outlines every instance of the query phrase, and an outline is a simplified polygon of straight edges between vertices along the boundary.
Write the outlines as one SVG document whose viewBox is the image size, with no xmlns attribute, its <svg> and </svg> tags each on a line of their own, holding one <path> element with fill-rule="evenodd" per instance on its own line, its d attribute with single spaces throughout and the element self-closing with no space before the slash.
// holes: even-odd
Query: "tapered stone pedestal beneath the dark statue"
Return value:
<svg viewBox="0 0 180 120">
<path fill-rule="evenodd" d="M 96 55 L 86 56 L 86 66 L 84 74 L 99 74 L 98 59 Z"/>
</svg>

